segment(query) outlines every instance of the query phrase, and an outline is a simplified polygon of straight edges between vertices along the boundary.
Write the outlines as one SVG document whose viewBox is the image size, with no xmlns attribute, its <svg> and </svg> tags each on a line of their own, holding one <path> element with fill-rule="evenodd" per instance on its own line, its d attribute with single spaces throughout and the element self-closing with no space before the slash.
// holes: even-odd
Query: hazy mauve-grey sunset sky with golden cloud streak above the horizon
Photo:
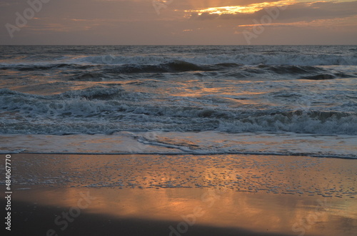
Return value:
<svg viewBox="0 0 357 236">
<path fill-rule="evenodd" d="M 357 44 L 357 1 L 0 0 L 0 44 Z"/>
</svg>

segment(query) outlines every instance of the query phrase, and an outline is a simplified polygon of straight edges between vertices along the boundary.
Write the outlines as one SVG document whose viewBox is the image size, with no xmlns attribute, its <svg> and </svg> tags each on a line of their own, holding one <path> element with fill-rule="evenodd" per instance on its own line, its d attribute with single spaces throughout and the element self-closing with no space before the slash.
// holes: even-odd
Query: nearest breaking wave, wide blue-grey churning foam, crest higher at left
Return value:
<svg viewBox="0 0 357 236">
<path fill-rule="evenodd" d="M 147 99 L 147 96 L 101 87 L 52 96 L 1 89 L 0 132 L 92 134 L 120 130 L 219 130 L 357 135 L 355 112 L 206 108 L 134 102 Z"/>
</svg>

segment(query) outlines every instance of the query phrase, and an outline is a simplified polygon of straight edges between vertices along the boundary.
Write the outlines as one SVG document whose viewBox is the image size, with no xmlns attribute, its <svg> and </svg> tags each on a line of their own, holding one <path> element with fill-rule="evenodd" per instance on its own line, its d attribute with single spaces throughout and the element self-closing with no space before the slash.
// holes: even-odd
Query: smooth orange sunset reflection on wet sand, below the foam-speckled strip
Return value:
<svg viewBox="0 0 357 236">
<path fill-rule="evenodd" d="M 112 219 L 186 222 L 187 225 L 236 227 L 286 235 L 301 232 L 306 235 L 352 235 L 351 230 L 357 223 L 356 205 L 347 207 L 346 201 L 203 188 L 39 188 L 19 191 L 16 200 L 70 209 L 76 207 L 84 195 L 93 198 L 84 212 L 108 215 Z M 350 201 L 347 205 L 353 203 Z"/>
</svg>

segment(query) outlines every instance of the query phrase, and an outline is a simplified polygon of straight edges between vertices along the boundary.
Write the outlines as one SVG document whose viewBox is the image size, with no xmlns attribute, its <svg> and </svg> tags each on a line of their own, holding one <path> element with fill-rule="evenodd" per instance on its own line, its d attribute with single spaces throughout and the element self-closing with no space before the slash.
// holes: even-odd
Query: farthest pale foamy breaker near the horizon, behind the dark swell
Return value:
<svg viewBox="0 0 357 236">
<path fill-rule="evenodd" d="M 24 63 L 0 63 L 1 69 L 20 68 L 22 70 L 62 68 L 66 66 L 95 66 L 95 65 L 158 65 L 180 62 L 191 63 L 196 66 L 218 65 L 289 65 L 289 66 L 357 66 L 357 56 L 332 54 L 293 54 L 276 53 L 237 53 L 208 54 L 206 56 L 82 56 L 78 58 L 66 57 L 59 60 L 34 61 Z M 169 65 L 170 66 L 170 65 Z"/>
</svg>

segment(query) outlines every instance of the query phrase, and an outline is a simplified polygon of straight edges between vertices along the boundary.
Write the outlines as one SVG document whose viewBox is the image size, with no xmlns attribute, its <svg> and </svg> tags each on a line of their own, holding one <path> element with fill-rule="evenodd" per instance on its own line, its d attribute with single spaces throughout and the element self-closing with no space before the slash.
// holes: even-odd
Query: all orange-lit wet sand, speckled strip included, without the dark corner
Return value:
<svg viewBox="0 0 357 236">
<path fill-rule="evenodd" d="M 26 158 L 36 163 L 34 155 L 18 157 L 22 168 Z M 301 157 L 297 168 L 296 158 L 287 156 L 218 159 L 73 155 L 51 156 L 47 163 L 41 157 L 42 171 L 33 166 L 41 184 L 27 183 L 30 189 L 17 190 L 14 200 L 70 209 L 88 194 L 94 200 L 82 212 L 113 220 L 176 222 L 166 230 L 201 225 L 285 235 L 354 234 L 357 205 L 351 160 Z M 308 194 L 311 186 L 315 192 Z"/>
</svg>

